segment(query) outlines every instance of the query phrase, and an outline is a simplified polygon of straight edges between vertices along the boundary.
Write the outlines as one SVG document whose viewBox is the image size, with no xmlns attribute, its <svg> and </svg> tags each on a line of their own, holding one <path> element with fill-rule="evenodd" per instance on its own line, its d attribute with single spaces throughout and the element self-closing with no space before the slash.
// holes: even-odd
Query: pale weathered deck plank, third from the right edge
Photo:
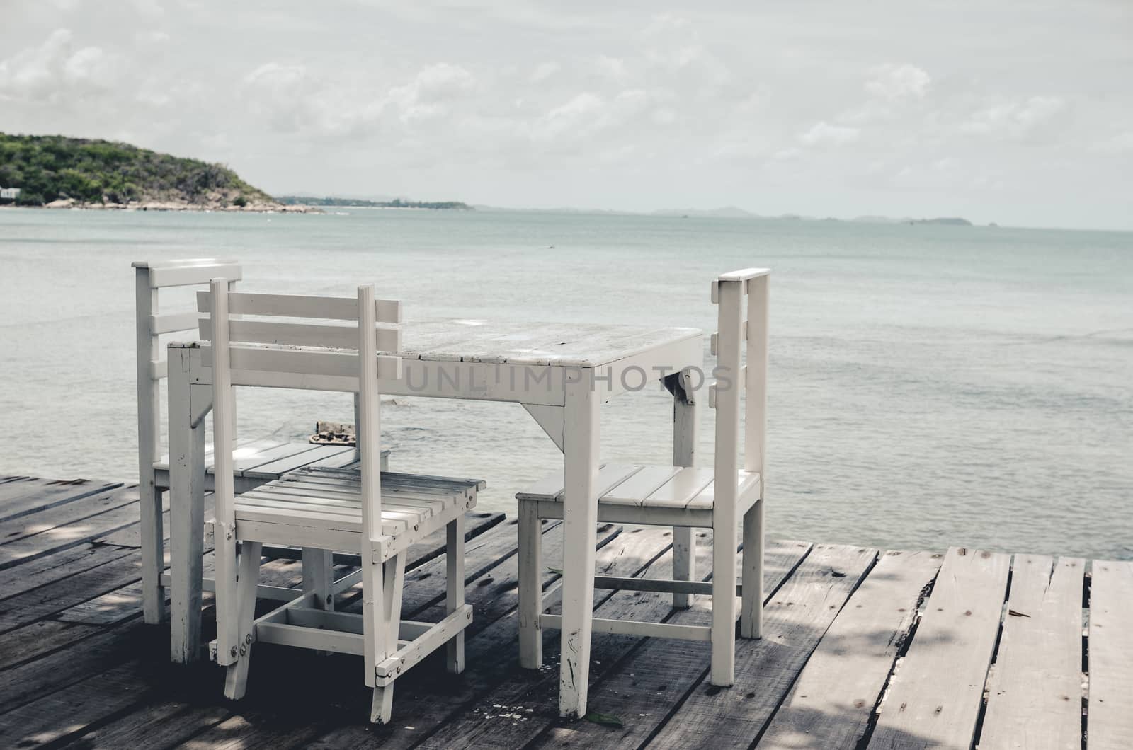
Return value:
<svg viewBox="0 0 1133 750">
<path fill-rule="evenodd" d="M 948 549 L 870 748 L 971 747 L 1010 568 L 1010 555 Z"/>
</svg>

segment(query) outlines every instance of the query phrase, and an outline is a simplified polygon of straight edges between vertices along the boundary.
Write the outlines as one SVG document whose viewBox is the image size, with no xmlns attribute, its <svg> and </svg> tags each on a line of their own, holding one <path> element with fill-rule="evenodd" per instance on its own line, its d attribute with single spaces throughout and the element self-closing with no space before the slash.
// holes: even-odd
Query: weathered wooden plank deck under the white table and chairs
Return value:
<svg viewBox="0 0 1133 750">
<path fill-rule="evenodd" d="M 239 704 L 214 665 L 171 665 L 168 629 L 139 616 L 136 498 L 114 483 L 0 477 L 0 747 L 1133 747 L 1131 562 L 772 543 L 766 637 L 738 641 L 734 687 L 707 683 L 707 644 L 595 636 L 596 721 L 563 723 L 557 632 L 542 672 L 516 665 L 516 526 L 474 513 L 468 670 L 420 665 L 397 683 L 393 723 L 370 726 L 356 658 L 257 646 Z M 553 561 L 561 528 L 544 534 Z M 599 539 L 611 574 L 668 576 L 664 530 Z M 414 549 L 403 616 L 443 614 L 442 551 Z M 295 562 L 264 573 L 299 582 Z M 599 591 L 595 604 L 706 622 L 667 602 Z"/>
</svg>

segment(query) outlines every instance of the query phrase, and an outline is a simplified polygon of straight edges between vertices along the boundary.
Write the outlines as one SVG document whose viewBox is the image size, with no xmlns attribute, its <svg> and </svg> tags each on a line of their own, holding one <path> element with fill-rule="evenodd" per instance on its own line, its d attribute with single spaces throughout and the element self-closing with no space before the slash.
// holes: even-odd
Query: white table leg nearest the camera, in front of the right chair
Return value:
<svg viewBox="0 0 1133 750">
<path fill-rule="evenodd" d="M 566 384 L 563 425 L 563 617 L 559 715 L 586 715 L 598 520 L 599 404 L 589 373 Z"/>
</svg>

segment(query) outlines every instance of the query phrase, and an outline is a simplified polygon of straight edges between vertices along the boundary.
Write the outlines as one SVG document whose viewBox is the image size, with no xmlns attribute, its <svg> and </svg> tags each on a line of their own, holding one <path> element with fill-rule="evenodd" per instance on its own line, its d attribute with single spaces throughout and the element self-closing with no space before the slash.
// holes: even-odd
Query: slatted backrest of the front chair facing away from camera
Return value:
<svg viewBox="0 0 1133 750">
<path fill-rule="evenodd" d="M 197 293 L 197 308 L 208 312 L 199 333 L 211 342 L 202 353 L 212 367 L 218 522 L 229 528 L 236 522 L 233 385 L 353 391 L 359 397 L 363 529 L 376 539 L 382 528 L 378 378 L 401 377 L 401 304 L 375 300 L 368 284 L 350 299 L 240 293 L 214 279 L 207 292 Z"/>
</svg>

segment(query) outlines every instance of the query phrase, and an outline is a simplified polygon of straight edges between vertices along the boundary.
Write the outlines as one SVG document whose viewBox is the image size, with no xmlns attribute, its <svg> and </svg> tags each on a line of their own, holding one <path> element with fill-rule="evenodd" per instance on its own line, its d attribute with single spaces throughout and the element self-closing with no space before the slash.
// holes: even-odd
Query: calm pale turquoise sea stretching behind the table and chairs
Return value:
<svg viewBox="0 0 1133 750">
<path fill-rule="evenodd" d="M 0 210 L 0 474 L 136 478 L 130 262 L 201 256 L 242 262 L 248 290 L 373 281 L 408 318 L 706 331 L 713 276 L 766 265 L 773 536 L 1133 559 L 1133 233 Z M 670 403 L 608 403 L 603 458 L 667 461 Z M 241 434 L 297 440 L 352 419 L 349 397 L 301 392 L 241 394 L 239 414 Z M 513 514 L 561 466 L 517 404 L 398 399 L 383 419 L 397 468 L 484 477 L 482 508 Z"/>
</svg>

